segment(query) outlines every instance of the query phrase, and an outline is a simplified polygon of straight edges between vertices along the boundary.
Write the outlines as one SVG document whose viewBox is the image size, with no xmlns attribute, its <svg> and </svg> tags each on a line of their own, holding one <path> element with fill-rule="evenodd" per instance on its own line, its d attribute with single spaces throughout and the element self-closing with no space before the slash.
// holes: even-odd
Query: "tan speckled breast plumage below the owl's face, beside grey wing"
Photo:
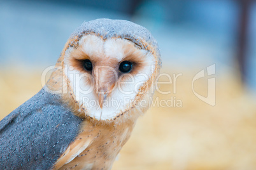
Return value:
<svg viewBox="0 0 256 170">
<path fill-rule="evenodd" d="M 68 150 L 62 155 L 62 157 L 65 157 L 65 155 L 68 155 L 68 157 L 64 159 L 60 157 L 59 162 L 55 164 L 55 169 L 71 169 L 71 167 L 76 169 L 85 167 L 89 167 L 89 169 L 110 169 L 121 148 L 131 136 L 134 125 L 134 121 L 126 121 L 122 124 L 84 121 L 83 128 L 80 130 L 76 140 L 71 143 Z M 89 145 L 85 150 L 71 162 L 63 165 L 71 156 L 71 151 L 74 147 L 88 141 Z"/>
</svg>

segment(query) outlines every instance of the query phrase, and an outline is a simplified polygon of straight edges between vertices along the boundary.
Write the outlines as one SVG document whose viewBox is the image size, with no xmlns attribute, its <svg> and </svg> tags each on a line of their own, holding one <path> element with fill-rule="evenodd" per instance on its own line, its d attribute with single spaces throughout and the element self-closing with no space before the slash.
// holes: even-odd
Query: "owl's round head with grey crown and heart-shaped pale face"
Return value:
<svg viewBox="0 0 256 170">
<path fill-rule="evenodd" d="M 97 120 L 145 112 L 160 64 L 157 41 L 144 27 L 125 20 L 85 22 L 57 62 L 62 96 L 77 114 Z"/>
</svg>

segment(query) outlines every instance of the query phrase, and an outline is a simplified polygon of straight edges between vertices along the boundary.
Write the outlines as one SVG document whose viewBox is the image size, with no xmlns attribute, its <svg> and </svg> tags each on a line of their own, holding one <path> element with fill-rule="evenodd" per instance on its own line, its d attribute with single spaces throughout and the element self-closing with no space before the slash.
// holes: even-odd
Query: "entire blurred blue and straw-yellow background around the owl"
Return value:
<svg viewBox="0 0 256 170">
<path fill-rule="evenodd" d="M 71 32 L 96 18 L 143 25 L 162 73 L 181 74 L 176 92 L 161 84 L 172 93 L 155 94 L 181 105 L 150 108 L 113 169 L 256 169 L 256 1 L 0 0 L 0 120 L 42 88 Z M 208 95 L 209 77 L 194 88 L 192 79 L 213 64 L 212 106 L 194 94 Z"/>
</svg>

